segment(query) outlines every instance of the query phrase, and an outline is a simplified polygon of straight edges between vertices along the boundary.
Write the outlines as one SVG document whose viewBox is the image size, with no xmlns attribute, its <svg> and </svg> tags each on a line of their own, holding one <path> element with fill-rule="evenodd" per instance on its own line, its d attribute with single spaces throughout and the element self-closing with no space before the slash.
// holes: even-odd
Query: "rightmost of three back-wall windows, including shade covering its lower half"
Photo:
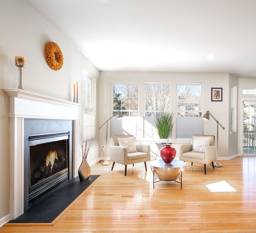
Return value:
<svg viewBox="0 0 256 233">
<path fill-rule="evenodd" d="M 202 83 L 177 83 L 176 140 L 191 139 L 193 134 L 204 134 Z"/>
</svg>

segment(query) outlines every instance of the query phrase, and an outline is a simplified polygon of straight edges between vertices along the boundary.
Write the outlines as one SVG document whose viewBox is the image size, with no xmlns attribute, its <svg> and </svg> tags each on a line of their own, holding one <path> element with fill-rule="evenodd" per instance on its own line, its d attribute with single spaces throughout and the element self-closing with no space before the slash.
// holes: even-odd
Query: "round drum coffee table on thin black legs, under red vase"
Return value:
<svg viewBox="0 0 256 233">
<path fill-rule="evenodd" d="M 150 162 L 150 168 L 153 172 L 153 188 L 155 183 L 159 181 L 175 181 L 180 183 L 182 189 L 182 172 L 185 171 L 186 163 L 180 160 L 173 160 L 170 164 L 166 164 L 162 159 Z M 156 181 L 158 178 L 158 181 Z M 180 180 L 177 181 L 177 180 Z"/>
</svg>

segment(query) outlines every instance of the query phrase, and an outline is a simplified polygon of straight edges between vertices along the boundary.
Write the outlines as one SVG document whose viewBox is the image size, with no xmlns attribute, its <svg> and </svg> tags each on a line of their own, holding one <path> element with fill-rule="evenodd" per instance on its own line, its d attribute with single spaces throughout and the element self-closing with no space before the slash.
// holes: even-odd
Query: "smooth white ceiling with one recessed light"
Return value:
<svg viewBox="0 0 256 233">
<path fill-rule="evenodd" d="M 26 2 L 101 71 L 256 77 L 256 0 Z"/>
</svg>

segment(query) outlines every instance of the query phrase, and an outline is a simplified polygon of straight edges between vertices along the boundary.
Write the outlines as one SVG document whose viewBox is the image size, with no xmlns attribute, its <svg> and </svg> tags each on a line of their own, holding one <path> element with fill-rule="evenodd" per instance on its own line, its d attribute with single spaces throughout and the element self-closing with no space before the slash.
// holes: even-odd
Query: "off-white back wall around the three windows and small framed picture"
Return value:
<svg viewBox="0 0 256 233">
<path fill-rule="evenodd" d="M 103 123 L 110 117 L 111 113 L 111 81 L 139 81 L 140 82 L 140 101 L 139 114 L 142 123 L 140 131 L 143 132 L 143 82 L 172 82 L 173 96 L 172 109 L 176 109 L 176 83 L 194 82 L 204 83 L 204 113 L 209 110 L 212 115 L 225 127 L 222 130 L 219 127 L 218 158 L 228 159 L 233 154 L 229 154 L 229 125 L 230 125 L 230 77 L 228 73 L 169 73 L 169 72 L 115 72 L 100 71 L 100 123 Z M 223 88 L 223 101 L 211 101 L 211 88 Z M 175 119 L 174 119 L 175 121 Z M 110 127 L 108 127 L 110 128 Z M 172 138 L 175 138 L 176 128 L 172 132 Z M 216 122 L 210 118 L 204 121 L 204 134 L 216 135 Z M 110 142 L 110 132 L 108 133 L 108 142 Z M 143 137 L 140 135 L 140 140 Z M 105 134 L 100 135 L 100 145 L 105 143 Z M 232 142 L 234 143 L 234 142 Z M 237 144 L 237 142 L 235 142 Z M 108 143 L 108 147 L 110 143 Z M 108 148 L 107 148 L 108 149 Z M 220 155 L 220 156 L 219 156 Z"/>
</svg>

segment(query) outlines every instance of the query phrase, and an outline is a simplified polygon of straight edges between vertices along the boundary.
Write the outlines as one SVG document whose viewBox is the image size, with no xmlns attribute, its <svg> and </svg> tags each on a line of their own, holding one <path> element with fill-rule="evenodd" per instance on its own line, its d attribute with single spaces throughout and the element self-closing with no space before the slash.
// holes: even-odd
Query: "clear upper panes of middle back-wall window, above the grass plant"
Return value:
<svg viewBox="0 0 256 233">
<path fill-rule="evenodd" d="M 144 116 L 156 116 L 160 111 L 169 112 L 171 89 L 170 83 L 144 83 Z"/>
</svg>

